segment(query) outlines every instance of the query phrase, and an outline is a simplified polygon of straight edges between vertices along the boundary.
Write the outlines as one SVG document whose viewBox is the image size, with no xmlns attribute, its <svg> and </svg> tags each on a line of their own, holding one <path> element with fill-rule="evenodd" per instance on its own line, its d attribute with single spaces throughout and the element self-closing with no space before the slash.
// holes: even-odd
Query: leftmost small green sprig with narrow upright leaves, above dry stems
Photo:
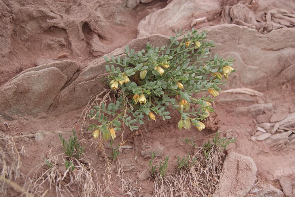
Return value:
<svg viewBox="0 0 295 197">
<path fill-rule="evenodd" d="M 73 129 L 73 136 L 70 135 L 68 142 L 63 138 L 63 135 L 58 134 L 60 142 L 63 145 L 65 154 L 69 157 L 80 159 L 83 155 L 84 148 L 80 145 L 75 130 Z"/>
</svg>

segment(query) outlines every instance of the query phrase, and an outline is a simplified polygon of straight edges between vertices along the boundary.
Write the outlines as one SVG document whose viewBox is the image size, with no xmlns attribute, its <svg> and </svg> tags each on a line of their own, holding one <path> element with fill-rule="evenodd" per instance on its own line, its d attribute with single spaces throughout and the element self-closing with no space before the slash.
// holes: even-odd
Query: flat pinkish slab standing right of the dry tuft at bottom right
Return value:
<svg viewBox="0 0 295 197">
<path fill-rule="evenodd" d="M 222 175 L 213 197 L 245 196 L 256 180 L 257 167 L 252 158 L 230 152 L 223 163 Z"/>
</svg>

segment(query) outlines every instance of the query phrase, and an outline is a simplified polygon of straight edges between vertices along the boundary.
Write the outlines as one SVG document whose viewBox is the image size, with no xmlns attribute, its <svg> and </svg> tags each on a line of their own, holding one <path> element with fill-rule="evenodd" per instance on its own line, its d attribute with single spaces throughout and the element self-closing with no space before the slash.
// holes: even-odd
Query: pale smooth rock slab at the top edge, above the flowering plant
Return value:
<svg viewBox="0 0 295 197">
<path fill-rule="evenodd" d="M 219 0 L 195 1 L 177 0 L 171 1 L 167 6 L 149 14 L 141 20 L 137 26 L 137 37 L 151 34 L 171 35 L 180 24 L 200 17 L 213 20 L 221 9 Z M 150 28 L 153 27 L 153 28 Z M 177 28 L 176 28 L 177 27 Z"/>
</svg>

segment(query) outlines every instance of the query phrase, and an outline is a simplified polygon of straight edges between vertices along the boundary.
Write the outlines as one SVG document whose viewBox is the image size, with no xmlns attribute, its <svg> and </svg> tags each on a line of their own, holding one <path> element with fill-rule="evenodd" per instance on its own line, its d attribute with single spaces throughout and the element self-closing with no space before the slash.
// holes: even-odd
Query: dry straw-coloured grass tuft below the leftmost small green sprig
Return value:
<svg viewBox="0 0 295 197">
<path fill-rule="evenodd" d="M 58 146 L 60 147 L 60 146 Z M 91 165 L 91 162 L 83 155 L 83 158 L 76 159 L 63 157 L 63 154 L 52 153 L 50 149 L 49 158 L 44 163 L 32 168 L 34 170 L 32 178 L 27 175 L 28 191 L 34 196 L 43 196 L 44 187 L 49 186 L 49 189 L 55 189 L 57 196 L 73 196 L 73 188 L 78 192 L 79 196 L 90 197 L 94 193 L 101 193 L 101 185 L 98 181 L 96 170 Z M 65 170 L 65 161 L 71 160 L 75 166 L 74 170 L 68 168 Z M 64 169 L 63 169 L 64 168 Z M 44 170 L 45 169 L 45 170 Z M 45 191 L 46 192 L 46 191 Z"/>
</svg>

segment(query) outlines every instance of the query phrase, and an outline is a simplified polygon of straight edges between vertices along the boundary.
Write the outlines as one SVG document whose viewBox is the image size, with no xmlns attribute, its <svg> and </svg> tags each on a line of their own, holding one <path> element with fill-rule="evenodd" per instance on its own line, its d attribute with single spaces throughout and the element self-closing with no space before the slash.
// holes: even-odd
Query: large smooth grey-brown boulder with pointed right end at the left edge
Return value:
<svg viewBox="0 0 295 197">
<path fill-rule="evenodd" d="M 78 65 L 70 60 L 26 69 L 0 87 L 0 110 L 9 115 L 47 112 L 77 69 Z"/>
</svg>

